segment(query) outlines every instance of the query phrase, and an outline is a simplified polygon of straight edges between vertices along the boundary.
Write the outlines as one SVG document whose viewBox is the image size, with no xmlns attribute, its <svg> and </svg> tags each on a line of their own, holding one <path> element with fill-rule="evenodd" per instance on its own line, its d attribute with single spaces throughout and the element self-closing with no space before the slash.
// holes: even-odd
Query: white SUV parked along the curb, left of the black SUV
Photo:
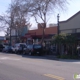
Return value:
<svg viewBox="0 0 80 80">
<path fill-rule="evenodd" d="M 22 54 L 26 48 L 27 48 L 26 43 L 17 43 L 13 47 L 13 52 Z"/>
</svg>

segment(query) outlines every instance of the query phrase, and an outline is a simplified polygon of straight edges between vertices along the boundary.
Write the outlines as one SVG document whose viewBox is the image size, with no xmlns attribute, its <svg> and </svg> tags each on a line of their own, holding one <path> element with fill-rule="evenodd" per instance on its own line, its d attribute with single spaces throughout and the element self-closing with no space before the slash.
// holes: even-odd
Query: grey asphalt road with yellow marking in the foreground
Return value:
<svg viewBox="0 0 80 80">
<path fill-rule="evenodd" d="M 0 80 L 74 80 L 74 74 L 80 74 L 79 60 L 0 53 Z"/>
</svg>

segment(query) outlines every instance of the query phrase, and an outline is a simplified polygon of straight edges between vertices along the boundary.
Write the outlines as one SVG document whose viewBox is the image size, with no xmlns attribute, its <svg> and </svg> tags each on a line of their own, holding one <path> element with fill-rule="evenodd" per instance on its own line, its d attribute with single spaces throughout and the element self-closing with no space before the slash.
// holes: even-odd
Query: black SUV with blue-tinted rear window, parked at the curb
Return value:
<svg viewBox="0 0 80 80">
<path fill-rule="evenodd" d="M 31 50 L 30 53 L 29 53 L 30 55 L 42 55 L 43 54 L 43 46 L 40 44 L 34 44 L 33 49 Z"/>
</svg>

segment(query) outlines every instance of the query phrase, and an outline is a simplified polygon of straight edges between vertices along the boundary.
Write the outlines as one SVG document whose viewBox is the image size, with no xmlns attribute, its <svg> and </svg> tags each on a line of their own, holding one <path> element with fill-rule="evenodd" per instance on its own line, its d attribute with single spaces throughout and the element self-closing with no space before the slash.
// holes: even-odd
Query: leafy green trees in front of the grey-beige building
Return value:
<svg viewBox="0 0 80 80">
<path fill-rule="evenodd" d="M 72 56 L 76 54 L 76 43 L 77 43 L 76 36 L 69 35 L 69 34 L 65 34 L 65 35 L 59 34 L 59 35 L 53 36 L 52 41 L 53 43 L 56 43 L 59 45 L 59 53 L 61 53 L 60 52 L 62 48 L 61 45 L 63 45 L 68 55 Z"/>
</svg>

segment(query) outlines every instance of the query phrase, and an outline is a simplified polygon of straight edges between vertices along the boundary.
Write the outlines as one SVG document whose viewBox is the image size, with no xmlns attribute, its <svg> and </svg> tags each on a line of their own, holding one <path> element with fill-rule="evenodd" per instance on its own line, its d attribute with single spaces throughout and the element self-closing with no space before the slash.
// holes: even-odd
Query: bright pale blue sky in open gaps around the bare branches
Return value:
<svg viewBox="0 0 80 80">
<path fill-rule="evenodd" d="M 68 0 L 69 1 L 69 0 Z M 11 0 L 0 0 L 0 15 L 4 14 L 5 11 L 8 9 L 9 4 L 11 3 Z M 64 21 L 76 14 L 78 11 L 80 11 L 80 0 L 70 0 L 69 4 L 67 5 L 66 11 L 62 12 L 56 12 L 55 15 L 52 15 L 51 18 L 49 19 L 48 23 L 57 23 L 57 14 L 59 13 L 59 20 Z M 31 20 L 33 22 L 34 19 Z M 34 22 L 35 23 L 35 22 Z M 35 28 L 35 24 L 32 24 L 32 29 Z M 4 36 L 4 32 L 0 32 L 0 36 Z"/>
</svg>

